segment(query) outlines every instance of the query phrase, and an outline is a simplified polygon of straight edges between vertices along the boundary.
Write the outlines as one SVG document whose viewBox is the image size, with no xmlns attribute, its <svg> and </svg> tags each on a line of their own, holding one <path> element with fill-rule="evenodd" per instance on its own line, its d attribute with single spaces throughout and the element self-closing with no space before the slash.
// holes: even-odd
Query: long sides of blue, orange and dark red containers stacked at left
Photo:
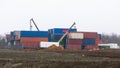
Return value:
<svg viewBox="0 0 120 68">
<path fill-rule="evenodd" d="M 40 48 L 41 41 L 48 41 L 47 31 L 21 31 L 20 42 L 23 48 Z"/>
</svg>

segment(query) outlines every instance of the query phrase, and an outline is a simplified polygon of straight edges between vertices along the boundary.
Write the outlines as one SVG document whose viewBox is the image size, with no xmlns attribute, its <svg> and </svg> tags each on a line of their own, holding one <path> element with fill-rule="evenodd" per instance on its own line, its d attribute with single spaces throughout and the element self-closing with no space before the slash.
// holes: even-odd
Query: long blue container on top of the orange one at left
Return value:
<svg viewBox="0 0 120 68">
<path fill-rule="evenodd" d="M 21 31 L 21 37 L 48 37 L 48 31 Z"/>
</svg>

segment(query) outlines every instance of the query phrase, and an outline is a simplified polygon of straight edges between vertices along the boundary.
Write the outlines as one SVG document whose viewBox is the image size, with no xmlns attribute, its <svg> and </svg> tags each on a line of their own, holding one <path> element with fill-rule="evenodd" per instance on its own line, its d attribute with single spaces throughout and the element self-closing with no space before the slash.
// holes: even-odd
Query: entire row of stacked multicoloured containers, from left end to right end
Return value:
<svg viewBox="0 0 120 68">
<path fill-rule="evenodd" d="M 102 44 L 102 36 L 97 32 L 77 32 L 70 29 L 69 33 L 59 43 L 60 38 L 68 31 L 68 28 L 53 28 L 48 31 L 13 31 L 7 35 L 12 47 L 16 48 L 48 48 L 51 44 L 61 45 L 67 49 L 97 49 Z M 10 37 L 10 38 L 9 38 Z"/>
</svg>

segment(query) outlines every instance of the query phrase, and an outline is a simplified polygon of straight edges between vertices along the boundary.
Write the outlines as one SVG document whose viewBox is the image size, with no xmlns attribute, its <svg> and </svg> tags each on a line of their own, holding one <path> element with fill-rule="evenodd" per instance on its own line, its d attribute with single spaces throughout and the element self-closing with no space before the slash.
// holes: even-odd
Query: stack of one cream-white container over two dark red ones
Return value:
<svg viewBox="0 0 120 68">
<path fill-rule="evenodd" d="M 83 33 L 74 32 L 68 34 L 67 48 L 72 50 L 80 50 L 82 45 Z"/>
</svg>

